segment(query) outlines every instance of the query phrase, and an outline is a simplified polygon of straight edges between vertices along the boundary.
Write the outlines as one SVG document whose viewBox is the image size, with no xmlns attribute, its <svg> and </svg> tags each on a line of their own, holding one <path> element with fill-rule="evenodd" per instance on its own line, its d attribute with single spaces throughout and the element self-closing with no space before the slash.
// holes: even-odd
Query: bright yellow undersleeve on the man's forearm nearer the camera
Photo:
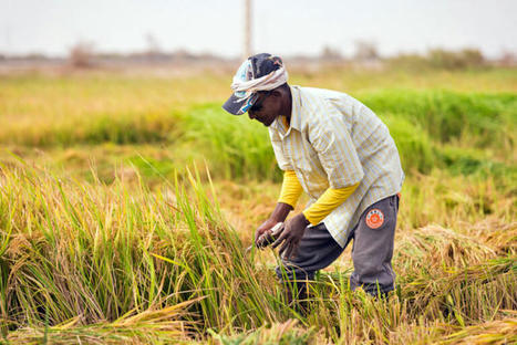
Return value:
<svg viewBox="0 0 517 345">
<path fill-rule="evenodd" d="M 311 224 L 318 224 L 323 218 L 329 216 L 338 206 L 344 202 L 354 192 L 359 182 L 344 188 L 329 188 L 323 195 L 304 210 L 302 213 Z"/>
</svg>

